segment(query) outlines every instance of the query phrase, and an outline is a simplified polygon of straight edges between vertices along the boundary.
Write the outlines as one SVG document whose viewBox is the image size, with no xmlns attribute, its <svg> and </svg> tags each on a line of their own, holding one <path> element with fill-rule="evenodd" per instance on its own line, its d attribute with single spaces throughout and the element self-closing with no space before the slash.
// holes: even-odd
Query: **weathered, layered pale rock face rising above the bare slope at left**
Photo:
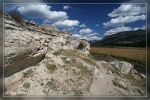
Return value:
<svg viewBox="0 0 150 100">
<path fill-rule="evenodd" d="M 4 16 L 4 20 L 5 76 L 37 64 L 47 52 L 53 53 L 60 49 L 76 47 L 74 44 L 67 45 L 67 39 L 71 34 L 59 32 L 56 27 L 50 25 L 38 27 L 30 22 L 19 25 L 8 15 Z M 80 41 L 78 39 L 74 42 L 79 45 Z M 87 45 L 84 45 L 83 51 L 88 52 Z"/>
</svg>

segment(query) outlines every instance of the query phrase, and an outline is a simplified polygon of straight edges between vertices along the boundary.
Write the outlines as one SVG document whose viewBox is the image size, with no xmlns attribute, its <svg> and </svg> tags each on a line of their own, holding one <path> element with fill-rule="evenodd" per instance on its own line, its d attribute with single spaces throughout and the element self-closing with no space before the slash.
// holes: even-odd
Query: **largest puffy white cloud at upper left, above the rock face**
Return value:
<svg viewBox="0 0 150 100">
<path fill-rule="evenodd" d="M 49 22 L 56 22 L 68 18 L 67 13 L 64 11 L 52 11 L 51 6 L 46 4 L 29 4 L 21 5 L 17 10 L 21 14 L 26 14 L 29 17 L 44 17 Z"/>
</svg>

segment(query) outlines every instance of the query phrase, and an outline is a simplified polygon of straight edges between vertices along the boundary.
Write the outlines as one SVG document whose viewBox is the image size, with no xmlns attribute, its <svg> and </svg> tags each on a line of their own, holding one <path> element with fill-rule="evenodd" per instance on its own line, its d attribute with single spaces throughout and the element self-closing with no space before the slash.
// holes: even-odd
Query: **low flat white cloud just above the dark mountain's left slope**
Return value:
<svg viewBox="0 0 150 100">
<path fill-rule="evenodd" d="M 116 34 L 118 32 L 130 31 L 130 30 L 132 30 L 130 27 L 125 27 L 125 26 L 117 27 L 117 28 L 111 29 L 109 31 L 106 31 L 105 35 L 112 35 L 112 34 Z"/>
</svg>

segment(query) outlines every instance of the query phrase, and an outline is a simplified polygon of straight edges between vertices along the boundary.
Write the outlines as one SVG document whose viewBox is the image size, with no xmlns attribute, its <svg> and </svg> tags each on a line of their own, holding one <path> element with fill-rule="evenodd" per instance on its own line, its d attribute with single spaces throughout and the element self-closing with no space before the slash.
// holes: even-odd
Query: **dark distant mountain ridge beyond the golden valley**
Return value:
<svg viewBox="0 0 150 100">
<path fill-rule="evenodd" d="M 124 31 L 105 36 L 102 40 L 91 43 L 91 46 L 145 47 L 146 30 L 139 29 L 136 31 Z"/>
</svg>

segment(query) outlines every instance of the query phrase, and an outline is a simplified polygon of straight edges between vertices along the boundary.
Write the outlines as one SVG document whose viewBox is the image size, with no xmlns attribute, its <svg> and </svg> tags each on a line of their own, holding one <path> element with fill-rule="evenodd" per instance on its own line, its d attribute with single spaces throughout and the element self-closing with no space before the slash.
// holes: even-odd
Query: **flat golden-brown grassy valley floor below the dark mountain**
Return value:
<svg viewBox="0 0 150 100">
<path fill-rule="evenodd" d="M 114 57 L 134 64 L 134 67 L 145 73 L 146 70 L 146 48 L 137 47 L 91 47 L 93 56 L 103 55 Z"/>
</svg>

